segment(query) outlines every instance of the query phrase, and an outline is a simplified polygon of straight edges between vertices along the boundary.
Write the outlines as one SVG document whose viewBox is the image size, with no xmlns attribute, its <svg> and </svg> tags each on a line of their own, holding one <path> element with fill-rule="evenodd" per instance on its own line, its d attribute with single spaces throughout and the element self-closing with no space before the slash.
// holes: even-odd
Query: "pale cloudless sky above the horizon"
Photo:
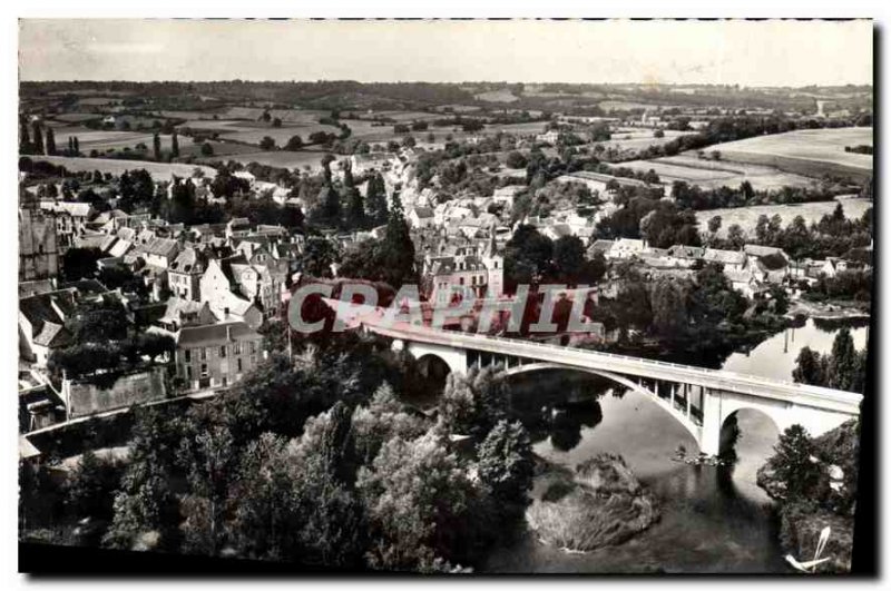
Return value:
<svg viewBox="0 0 891 591">
<path fill-rule="evenodd" d="M 21 19 L 20 80 L 872 83 L 872 22 Z"/>
</svg>

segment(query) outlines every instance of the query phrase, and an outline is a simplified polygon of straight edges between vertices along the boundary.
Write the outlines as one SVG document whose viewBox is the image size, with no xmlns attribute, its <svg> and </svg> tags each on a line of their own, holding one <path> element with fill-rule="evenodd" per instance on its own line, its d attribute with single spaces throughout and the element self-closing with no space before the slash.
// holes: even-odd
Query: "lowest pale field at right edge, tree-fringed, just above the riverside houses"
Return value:
<svg viewBox="0 0 891 591">
<path fill-rule="evenodd" d="M 833 201 L 815 201 L 795 205 L 756 205 L 752 207 L 734 207 L 724 209 L 705 209 L 696 211 L 696 219 L 699 223 L 699 230 L 705 230 L 708 220 L 714 216 L 721 216 L 721 229 L 717 235 L 719 238 L 727 236 L 727 228 L 733 224 L 738 224 L 747 235 L 753 235 L 755 225 L 761 215 L 773 217 L 780 214 L 783 225 L 790 224 L 795 216 L 802 216 L 804 221 L 819 221 L 826 214 L 835 209 L 835 204 L 841 203 L 845 217 L 859 218 L 863 211 L 872 207 L 872 201 L 852 196 L 839 196 Z"/>
</svg>

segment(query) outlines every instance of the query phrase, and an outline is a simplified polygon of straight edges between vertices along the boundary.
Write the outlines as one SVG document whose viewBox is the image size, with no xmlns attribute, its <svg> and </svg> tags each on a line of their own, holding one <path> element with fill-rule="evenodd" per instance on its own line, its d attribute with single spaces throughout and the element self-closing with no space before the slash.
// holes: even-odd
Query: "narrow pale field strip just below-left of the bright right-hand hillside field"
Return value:
<svg viewBox="0 0 891 591">
<path fill-rule="evenodd" d="M 633 160 L 617 166 L 644 173 L 654 170 L 663 183 L 683 180 L 703 189 L 716 189 L 722 186 L 736 188 L 743 180 L 748 180 L 755 190 L 773 190 L 784 186 L 806 187 L 814 184 L 812 178 L 783 173 L 770 166 L 704 160 L 686 155 L 655 160 Z"/>
</svg>

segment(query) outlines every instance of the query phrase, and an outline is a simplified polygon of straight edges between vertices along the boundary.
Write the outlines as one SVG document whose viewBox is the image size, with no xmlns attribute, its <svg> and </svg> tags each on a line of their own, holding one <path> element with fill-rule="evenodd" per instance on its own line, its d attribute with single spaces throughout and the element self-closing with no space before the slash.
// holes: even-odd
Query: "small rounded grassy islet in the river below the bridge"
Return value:
<svg viewBox="0 0 891 591">
<path fill-rule="evenodd" d="M 538 539 L 565 552 L 620 544 L 659 519 L 656 499 L 621 456 L 598 454 L 575 471 L 539 459 L 526 516 Z M 535 492 L 533 492 L 533 496 Z"/>
</svg>

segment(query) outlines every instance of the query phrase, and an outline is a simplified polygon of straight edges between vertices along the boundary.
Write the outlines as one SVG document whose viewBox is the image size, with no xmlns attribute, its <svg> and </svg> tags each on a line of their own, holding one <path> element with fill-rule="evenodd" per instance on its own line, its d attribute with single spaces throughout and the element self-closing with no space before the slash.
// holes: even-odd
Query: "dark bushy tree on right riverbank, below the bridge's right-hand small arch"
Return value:
<svg viewBox="0 0 891 591">
<path fill-rule="evenodd" d="M 812 457 L 814 444 L 801 425 L 792 425 L 780 434 L 775 454 L 768 460 L 776 479 L 783 483 L 785 499 L 814 499 L 820 483 L 820 465 Z"/>
</svg>

